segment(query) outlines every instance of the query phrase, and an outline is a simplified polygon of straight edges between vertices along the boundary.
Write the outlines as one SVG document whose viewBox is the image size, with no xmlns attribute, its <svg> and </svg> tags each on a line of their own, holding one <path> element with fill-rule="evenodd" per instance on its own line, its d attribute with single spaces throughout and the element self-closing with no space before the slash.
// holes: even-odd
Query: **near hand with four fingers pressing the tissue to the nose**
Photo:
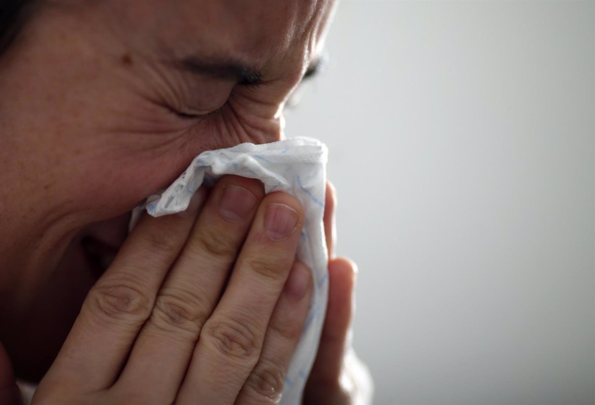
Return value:
<svg viewBox="0 0 595 405">
<path fill-rule="evenodd" d="M 311 273 L 294 262 L 302 209 L 237 176 L 191 204 L 140 220 L 34 405 L 278 400 L 311 300 Z"/>
</svg>

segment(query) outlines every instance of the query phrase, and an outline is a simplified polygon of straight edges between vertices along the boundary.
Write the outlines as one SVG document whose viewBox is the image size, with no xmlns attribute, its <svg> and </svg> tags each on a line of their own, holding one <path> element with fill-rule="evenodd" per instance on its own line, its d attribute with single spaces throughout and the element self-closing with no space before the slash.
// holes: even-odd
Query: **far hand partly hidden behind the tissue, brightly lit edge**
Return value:
<svg viewBox="0 0 595 405">
<path fill-rule="evenodd" d="M 328 248 L 328 304 L 318 353 L 306 384 L 304 405 L 363 405 L 372 403 L 372 379 L 355 355 L 350 327 L 354 311 L 357 267 L 336 258 L 336 192 L 327 183 L 324 232 Z"/>
</svg>

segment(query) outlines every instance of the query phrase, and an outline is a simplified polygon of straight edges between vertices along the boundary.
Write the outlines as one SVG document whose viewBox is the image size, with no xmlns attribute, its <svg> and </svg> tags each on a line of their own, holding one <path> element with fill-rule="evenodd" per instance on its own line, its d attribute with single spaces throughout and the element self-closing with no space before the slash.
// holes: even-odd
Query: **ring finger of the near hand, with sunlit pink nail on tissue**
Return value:
<svg viewBox="0 0 595 405">
<path fill-rule="evenodd" d="M 201 331 L 179 404 L 233 404 L 256 365 L 275 303 L 292 267 L 303 224 L 295 197 L 267 195 L 226 291 Z"/>
</svg>

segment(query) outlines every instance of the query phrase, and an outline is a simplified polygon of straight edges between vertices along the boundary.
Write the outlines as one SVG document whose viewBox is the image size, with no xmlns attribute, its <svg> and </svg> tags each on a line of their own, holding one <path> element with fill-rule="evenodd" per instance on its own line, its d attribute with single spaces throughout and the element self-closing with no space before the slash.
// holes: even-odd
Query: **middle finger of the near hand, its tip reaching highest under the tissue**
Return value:
<svg viewBox="0 0 595 405">
<path fill-rule="evenodd" d="M 255 179 L 224 176 L 217 183 L 159 290 L 115 391 L 125 391 L 136 403 L 173 403 L 263 197 Z"/>
</svg>

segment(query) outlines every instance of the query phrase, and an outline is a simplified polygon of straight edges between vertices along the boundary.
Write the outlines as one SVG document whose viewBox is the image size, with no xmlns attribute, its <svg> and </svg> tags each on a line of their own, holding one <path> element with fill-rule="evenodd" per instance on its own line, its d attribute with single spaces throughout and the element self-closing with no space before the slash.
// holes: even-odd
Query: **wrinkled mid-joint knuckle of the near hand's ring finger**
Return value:
<svg viewBox="0 0 595 405">
<path fill-rule="evenodd" d="M 252 362 L 258 358 L 261 342 L 248 322 L 231 318 L 209 319 L 203 328 L 203 334 L 201 338 L 210 341 L 214 349 L 224 357 L 240 362 Z"/>
</svg>

